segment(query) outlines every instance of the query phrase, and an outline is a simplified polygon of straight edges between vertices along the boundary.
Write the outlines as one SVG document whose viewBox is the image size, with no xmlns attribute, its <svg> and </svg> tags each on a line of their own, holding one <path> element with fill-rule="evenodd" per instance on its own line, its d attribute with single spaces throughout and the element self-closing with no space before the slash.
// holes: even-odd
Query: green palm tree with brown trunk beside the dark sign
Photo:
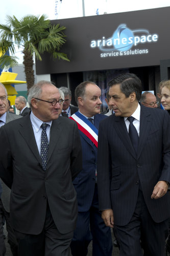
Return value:
<svg viewBox="0 0 170 256">
<path fill-rule="evenodd" d="M 18 64 L 15 56 L 16 48 L 22 49 L 23 65 L 28 90 L 34 84 L 34 55 L 42 60 L 41 54 L 50 53 L 53 58 L 69 61 L 60 48 L 65 43 L 65 27 L 59 24 L 51 25 L 50 20 L 42 16 L 26 15 L 18 20 L 15 16 L 7 16 L 7 25 L 0 25 L 0 49 L 5 53 L 8 49 L 11 56 L 6 54 L 0 57 L 1 68 L 14 67 Z"/>
</svg>

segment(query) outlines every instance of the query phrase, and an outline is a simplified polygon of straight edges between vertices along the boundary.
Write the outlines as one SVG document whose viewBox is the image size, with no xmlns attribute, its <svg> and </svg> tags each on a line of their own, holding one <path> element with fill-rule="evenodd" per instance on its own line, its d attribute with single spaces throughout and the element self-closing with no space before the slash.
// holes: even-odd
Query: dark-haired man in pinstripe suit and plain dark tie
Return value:
<svg viewBox="0 0 170 256">
<path fill-rule="evenodd" d="M 143 255 L 140 243 L 144 255 L 163 256 L 170 215 L 169 115 L 139 105 L 142 86 L 134 74 L 119 75 L 109 87 L 115 114 L 99 128 L 102 217 L 114 225 L 120 256 Z"/>
</svg>

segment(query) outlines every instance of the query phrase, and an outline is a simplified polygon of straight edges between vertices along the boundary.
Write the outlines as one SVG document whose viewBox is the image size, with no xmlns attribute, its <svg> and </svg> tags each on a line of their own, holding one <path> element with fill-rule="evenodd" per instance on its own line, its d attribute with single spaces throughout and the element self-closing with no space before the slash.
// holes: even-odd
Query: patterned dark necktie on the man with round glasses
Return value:
<svg viewBox="0 0 170 256">
<path fill-rule="evenodd" d="M 46 162 L 48 156 L 48 138 L 46 135 L 46 127 L 47 123 L 42 123 L 42 133 L 41 133 L 41 160 L 42 160 L 42 168 L 46 170 Z"/>
</svg>

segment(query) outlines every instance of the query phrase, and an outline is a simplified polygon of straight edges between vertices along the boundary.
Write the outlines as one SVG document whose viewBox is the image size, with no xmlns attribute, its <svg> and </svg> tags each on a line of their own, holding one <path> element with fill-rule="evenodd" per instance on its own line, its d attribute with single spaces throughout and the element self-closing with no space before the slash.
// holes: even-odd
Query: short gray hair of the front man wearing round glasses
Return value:
<svg viewBox="0 0 170 256">
<path fill-rule="evenodd" d="M 40 95 L 42 93 L 42 87 L 44 86 L 44 84 L 50 84 L 50 85 L 54 86 L 52 82 L 45 81 L 45 80 L 41 80 L 41 81 L 37 82 L 36 84 L 34 84 L 34 86 L 30 88 L 29 95 L 28 95 L 28 103 L 29 103 L 30 107 L 32 107 L 31 99 L 40 97 Z"/>
</svg>

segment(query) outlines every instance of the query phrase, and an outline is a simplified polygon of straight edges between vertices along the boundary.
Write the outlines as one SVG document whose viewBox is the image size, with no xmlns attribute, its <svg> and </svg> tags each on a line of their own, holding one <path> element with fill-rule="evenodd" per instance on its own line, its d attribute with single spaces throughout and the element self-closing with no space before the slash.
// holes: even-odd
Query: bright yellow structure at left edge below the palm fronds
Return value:
<svg viewBox="0 0 170 256">
<path fill-rule="evenodd" d="M 3 83 L 7 89 L 8 99 L 10 100 L 11 105 L 15 104 L 15 98 L 18 94 L 15 88 L 11 86 L 11 84 L 26 83 L 26 81 L 15 80 L 17 75 L 17 73 L 13 72 L 2 72 L 0 75 L 0 82 Z"/>
</svg>

